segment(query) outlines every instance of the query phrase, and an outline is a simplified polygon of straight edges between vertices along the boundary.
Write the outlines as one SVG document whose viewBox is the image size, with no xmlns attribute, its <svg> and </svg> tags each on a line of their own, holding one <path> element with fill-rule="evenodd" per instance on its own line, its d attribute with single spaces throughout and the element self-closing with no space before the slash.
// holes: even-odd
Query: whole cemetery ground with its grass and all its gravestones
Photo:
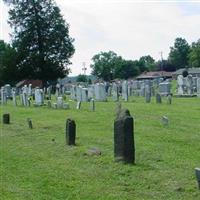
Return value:
<svg viewBox="0 0 200 200">
<path fill-rule="evenodd" d="M 182 79 L 1 87 L 0 196 L 199 199 L 199 80 Z"/>
</svg>

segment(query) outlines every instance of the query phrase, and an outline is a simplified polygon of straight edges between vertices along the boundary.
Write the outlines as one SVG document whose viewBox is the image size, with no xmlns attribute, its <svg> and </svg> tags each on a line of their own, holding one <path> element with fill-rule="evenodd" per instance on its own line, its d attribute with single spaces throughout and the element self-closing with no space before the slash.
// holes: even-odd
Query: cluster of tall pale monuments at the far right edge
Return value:
<svg viewBox="0 0 200 200">
<path fill-rule="evenodd" d="M 188 75 L 183 77 L 183 75 L 178 75 L 177 77 L 177 94 L 178 95 L 194 95 L 197 94 L 200 97 L 200 78 L 192 77 Z"/>
</svg>

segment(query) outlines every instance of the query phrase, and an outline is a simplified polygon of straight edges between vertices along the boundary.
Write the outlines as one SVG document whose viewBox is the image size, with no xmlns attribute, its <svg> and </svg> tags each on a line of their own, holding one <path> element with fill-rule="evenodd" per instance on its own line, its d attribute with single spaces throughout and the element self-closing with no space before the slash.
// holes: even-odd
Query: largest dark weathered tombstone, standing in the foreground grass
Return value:
<svg viewBox="0 0 200 200">
<path fill-rule="evenodd" d="M 134 120 L 129 110 L 119 110 L 114 121 L 115 161 L 135 162 Z"/>
</svg>

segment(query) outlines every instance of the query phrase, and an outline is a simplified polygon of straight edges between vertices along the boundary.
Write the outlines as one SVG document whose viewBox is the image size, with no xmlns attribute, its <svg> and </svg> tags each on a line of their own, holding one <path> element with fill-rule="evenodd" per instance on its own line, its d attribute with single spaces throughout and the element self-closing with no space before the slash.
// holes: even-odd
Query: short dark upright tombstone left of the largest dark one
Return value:
<svg viewBox="0 0 200 200">
<path fill-rule="evenodd" d="M 66 121 L 66 144 L 75 145 L 76 139 L 76 123 L 72 119 Z"/>
</svg>

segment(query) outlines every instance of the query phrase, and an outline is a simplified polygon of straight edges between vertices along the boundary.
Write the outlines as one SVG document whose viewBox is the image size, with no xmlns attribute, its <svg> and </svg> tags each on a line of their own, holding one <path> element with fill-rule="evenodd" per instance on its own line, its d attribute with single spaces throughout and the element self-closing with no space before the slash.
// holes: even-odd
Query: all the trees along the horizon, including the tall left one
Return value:
<svg viewBox="0 0 200 200">
<path fill-rule="evenodd" d="M 69 74 L 75 52 L 69 24 L 54 0 L 4 0 L 9 6 L 12 41 L 0 40 L 0 85 L 23 79 L 40 79 L 46 84 Z M 175 71 L 200 67 L 200 39 L 191 45 L 176 38 L 167 60 L 150 55 L 126 60 L 113 51 L 92 57 L 92 74 L 105 81 L 128 79 L 145 71 Z M 84 80 L 84 77 L 79 77 Z"/>
</svg>

